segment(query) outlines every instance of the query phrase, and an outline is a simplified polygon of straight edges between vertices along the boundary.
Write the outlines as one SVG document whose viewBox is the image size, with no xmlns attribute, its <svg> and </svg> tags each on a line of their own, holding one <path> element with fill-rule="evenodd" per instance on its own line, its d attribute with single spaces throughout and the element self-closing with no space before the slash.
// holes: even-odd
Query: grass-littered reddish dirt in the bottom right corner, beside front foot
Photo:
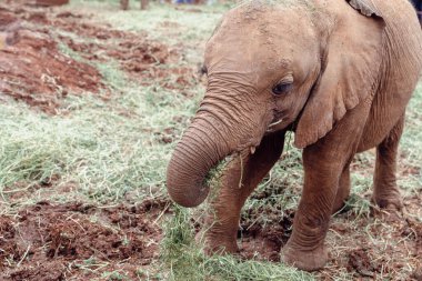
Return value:
<svg viewBox="0 0 422 281">
<path fill-rule="evenodd" d="M 362 215 L 356 209 L 333 218 L 326 243 L 330 260 L 318 275 L 331 278 L 343 269 L 359 280 L 418 280 L 421 268 L 422 201 L 418 195 L 403 199 L 408 211 L 384 211 Z"/>
</svg>

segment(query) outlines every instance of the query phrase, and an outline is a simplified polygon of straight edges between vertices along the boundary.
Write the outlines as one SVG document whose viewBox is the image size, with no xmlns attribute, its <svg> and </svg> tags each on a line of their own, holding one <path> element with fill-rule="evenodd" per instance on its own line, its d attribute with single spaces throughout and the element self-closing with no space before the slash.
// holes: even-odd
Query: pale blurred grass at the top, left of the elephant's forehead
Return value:
<svg viewBox="0 0 422 281">
<path fill-rule="evenodd" d="M 185 42 L 188 49 L 195 49 L 198 44 L 207 40 L 207 34 L 213 30 L 221 14 L 232 7 L 234 2 L 213 6 L 173 6 L 159 4 L 151 1 L 150 9 L 139 10 L 139 1 L 131 1 L 131 9 L 119 10 L 119 1 L 87 1 L 73 0 L 71 8 L 101 9 L 94 21 L 109 22 L 119 30 L 133 31 L 144 37 L 142 31 L 148 31 L 147 37 L 161 42 L 178 44 Z M 194 9 L 193 11 L 185 11 Z M 174 28 L 175 27 L 175 28 Z M 152 31 L 152 32 L 150 32 Z M 188 56 L 190 56 L 187 52 Z M 198 54 L 198 53 L 193 53 Z"/>
</svg>

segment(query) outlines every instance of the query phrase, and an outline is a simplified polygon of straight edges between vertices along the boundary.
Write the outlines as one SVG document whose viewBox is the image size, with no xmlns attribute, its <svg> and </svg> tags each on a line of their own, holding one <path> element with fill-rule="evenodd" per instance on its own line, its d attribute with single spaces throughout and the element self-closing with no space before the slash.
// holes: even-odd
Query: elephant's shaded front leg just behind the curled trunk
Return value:
<svg viewBox="0 0 422 281">
<path fill-rule="evenodd" d="M 221 178 L 221 187 L 212 200 L 212 213 L 205 220 L 208 252 L 237 252 L 237 235 L 240 211 L 283 150 L 284 132 L 277 132 L 262 139 L 253 154 L 241 163 L 235 159 L 229 163 Z M 241 175 L 241 168 L 243 168 Z M 242 179 L 242 184 L 239 182 Z"/>
</svg>

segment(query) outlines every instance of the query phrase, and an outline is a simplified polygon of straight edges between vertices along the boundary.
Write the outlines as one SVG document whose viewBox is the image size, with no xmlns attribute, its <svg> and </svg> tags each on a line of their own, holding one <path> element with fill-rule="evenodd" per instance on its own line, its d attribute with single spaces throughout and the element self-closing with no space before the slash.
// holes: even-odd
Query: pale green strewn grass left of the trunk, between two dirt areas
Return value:
<svg viewBox="0 0 422 281">
<path fill-rule="evenodd" d="M 127 192 L 139 199 L 163 192 L 163 163 L 172 144 L 160 139 L 168 128 L 181 133 L 182 124 L 171 120 L 187 121 L 197 101 L 157 87 L 140 88 L 112 66 L 100 70 L 112 89 L 124 94 L 110 101 L 90 93 L 71 97 L 66 117 L 46 116 L 22 104 L 1 106 L 3 195 L 13 192 L 13 183 L 29 188 L 53 174 L 60 174 L 62 184 L 77 182 L 81 194 L 100 202 L 119 200 Z"/>
</svg>

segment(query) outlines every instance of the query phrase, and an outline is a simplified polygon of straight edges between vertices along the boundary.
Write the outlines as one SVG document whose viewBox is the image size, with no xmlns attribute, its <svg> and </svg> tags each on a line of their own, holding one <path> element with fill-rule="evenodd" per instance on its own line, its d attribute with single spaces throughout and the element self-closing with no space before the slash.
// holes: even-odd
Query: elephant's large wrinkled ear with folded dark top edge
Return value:
<svg viewBox="0 0 422 281">
<path fill-rule="evenodd" d="M 370 98 L 382 61 L 385 23 L 371 0 L 350 0 L 322 51 L 322 70 L 299 119 L 294 144 L 324 137 L 348 110 Z"/>
</svg>

